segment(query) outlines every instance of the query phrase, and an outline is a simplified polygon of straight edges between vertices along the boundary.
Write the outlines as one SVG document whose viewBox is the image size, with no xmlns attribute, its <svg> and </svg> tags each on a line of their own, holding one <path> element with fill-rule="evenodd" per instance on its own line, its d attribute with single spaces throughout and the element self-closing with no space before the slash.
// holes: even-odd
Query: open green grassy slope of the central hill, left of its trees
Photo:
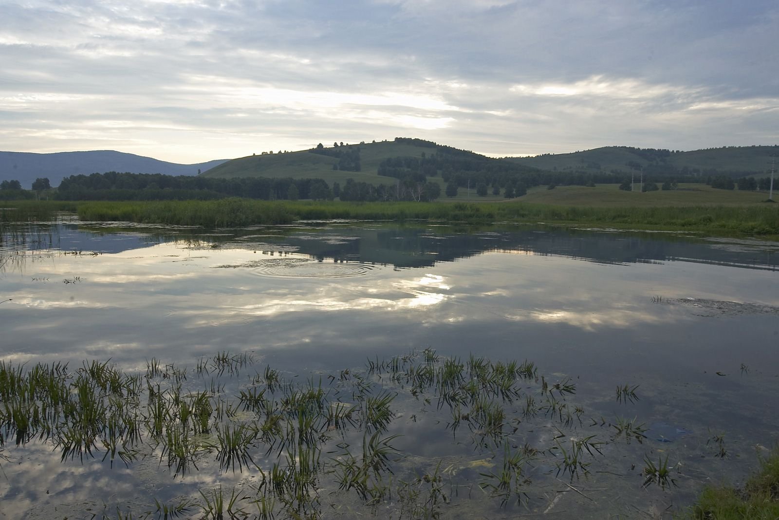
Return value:
<svg viewBox="0 0 779 520">
<path fill-rule="evenodd" d="M 322 178 L 328 183 L 339 182 L 343 185 L 347 178 L 369 184 L 395 184 L 393 177 L 381 177 L 377 173 L 379 163 L 387 157 L 421 156 L 435 149 L 411 146 L 399 142 L 370 142 L 360 147 L 361 171 L 333 170 L 335 157 L 323 156 L 308 151 L 273 153 L 259 156 L 241 157 L 203 172 L 204 177 L 306 177 Z"/>
</svg>

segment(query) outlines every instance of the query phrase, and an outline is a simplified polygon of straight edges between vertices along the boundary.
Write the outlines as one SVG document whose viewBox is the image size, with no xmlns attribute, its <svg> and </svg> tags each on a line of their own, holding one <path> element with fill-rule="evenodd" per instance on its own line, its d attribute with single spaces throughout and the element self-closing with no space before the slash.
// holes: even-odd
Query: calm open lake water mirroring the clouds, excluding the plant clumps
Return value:
<svg viewBox="0 0 779 520">
<path fill-rule="evenodd" d="M 192 369 L 228 351 L 249 353 L 250 375 L 270 365 L 291 381 L 328 382 L 361 371 L 398 395 L 388 433 L 402 435 L 394 446 L 404 459 L 392 478 L 432 473 L 437 461 L 451 468 L 447 501 L 435 506 L 442 518 L 659 518 L 704 483 L 742 481 L 756 452 L 779 440 L 777 244 L 531 227 L 309 223 L 206 233 L 62 220 L 6 227 L 0 247 L 0 359 L 74 370 L 110 359 L 146 374 L 152 358 Z M 478 486 L 498 473 L 501 445 L 468 427 L 453 435 L 448 407 L 365 372 L 368 359 L 425 349 L 531 360 L 550 385 L 575 383 L 565 399 L 583 413 L 573 424 L 506 404 L 516 426 L 509 444 L 554 448 L 527 467 L 522 504 L 501 508 Z M 236 391 L 249 385 L 241 377 Z M 191 375 L 186 385 L 202 390 L 211 379 Z M 639 400 L 615 401 L 617 385 L 639 385 Z M 615 438 L 618 416 L 643 423 L 646 439 Z M 589 473 L 559 473 L 555 446 L 590 434 L 606 444 L 587 459 Z M 326 445 L 337 450 L 335 441 Z M 7 438 L 0 518 L 116 518 L 117 507 L 137 515 L 154 511 L 151 497 L 197 498 L 256 480 L 220 469 L 207 451 L 182 476 L 150 450 L 129 465 L 111 466 L 102 453 L 61 462 L 50 442 Z M 677 485 L 644 489 L 645 457 L 666 455 Z M 397 496 L 365 508 L 326 480 L 325 518 L 408 512 Z"/>
</svg>

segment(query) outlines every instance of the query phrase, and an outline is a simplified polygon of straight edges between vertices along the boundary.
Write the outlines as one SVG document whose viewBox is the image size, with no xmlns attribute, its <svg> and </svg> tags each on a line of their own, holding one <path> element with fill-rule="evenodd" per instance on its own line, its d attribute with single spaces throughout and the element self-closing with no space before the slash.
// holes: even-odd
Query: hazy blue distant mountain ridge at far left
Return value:
<svg viewBox="0 0 779 520">
<path fill-rule="evenodd" d="M 16 179 L 23 188 L 30 188 L 37 177 L 48 177 L 51 185 L 57 186 L 64 177 L 70 175 L 102 174 L 107 171 L 197 175 L 226 161 L 220 159 L 206 163 L 178 164 L 115 150 L 58 153 L 0 151 L 0 181 Z"/>
</svg>

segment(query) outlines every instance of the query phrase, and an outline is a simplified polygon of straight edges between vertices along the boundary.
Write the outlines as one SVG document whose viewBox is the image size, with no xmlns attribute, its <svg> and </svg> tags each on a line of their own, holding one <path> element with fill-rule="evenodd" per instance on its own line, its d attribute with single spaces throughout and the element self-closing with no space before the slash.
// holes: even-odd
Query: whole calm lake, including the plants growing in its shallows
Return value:
<svg viewBox="0 0 779 520">
<path fill-rule="evenodd" d="M 6 224 L 0 518 L 670 518 L 779 439 L 777 252 Z"/>
</svg>

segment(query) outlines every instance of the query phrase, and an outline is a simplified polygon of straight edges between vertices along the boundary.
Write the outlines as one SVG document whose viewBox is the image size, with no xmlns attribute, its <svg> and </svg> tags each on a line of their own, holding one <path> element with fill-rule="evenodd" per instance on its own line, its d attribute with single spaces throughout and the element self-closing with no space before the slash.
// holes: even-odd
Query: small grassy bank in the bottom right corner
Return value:
<svg viewBox="0 0 779 520">
<path fill-rule="evenodd" d="M 743 490 L 707 487 L 691 510 L 679 518 L 696 520 L 774 520 L 779 518 L 779 450 L 760 460 L 760 472 Z"/>
</svg>

